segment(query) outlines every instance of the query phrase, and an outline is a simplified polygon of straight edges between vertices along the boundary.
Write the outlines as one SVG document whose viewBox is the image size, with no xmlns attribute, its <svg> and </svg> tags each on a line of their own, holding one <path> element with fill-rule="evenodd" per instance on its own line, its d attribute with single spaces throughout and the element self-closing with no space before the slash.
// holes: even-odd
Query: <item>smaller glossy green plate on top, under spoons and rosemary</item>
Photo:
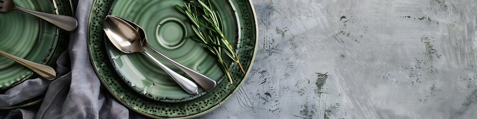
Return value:
<svg viewBox="0 0 477 119">
<path fill-rule="evenodd" d="M 177 11 L 174 4 L 184 4 L 183 0 L 116 0 L 111 7 L 110 15 L 129 19 L 140 25 L 147 33 L 148 43 L 156 50 L 193 70 L 196 70 L 219 83 L 224 79 L 215 56 L 198 42 L 182 39 L 193 33 L 187 17 Z M 214 1 L 223 20 L 224 33 L 230 43 L 237 43 L 238 25 L 234 9 L 229 1 Z M 206 92 L 199 88 L 200 95 L 188 94 L 154 61 L 146 56 L 124 54 L 105 40 L 113 66 L 122 79 L 134 90 L 163 102 L 184 102 L 204 95 Z M 150 52 L 152 53 L 152 52 Z M 185 75 L 174 65 L 156 56 L 167 67 Z M 223 59 L 227 60 L 227 56 Z"/>
</svg>

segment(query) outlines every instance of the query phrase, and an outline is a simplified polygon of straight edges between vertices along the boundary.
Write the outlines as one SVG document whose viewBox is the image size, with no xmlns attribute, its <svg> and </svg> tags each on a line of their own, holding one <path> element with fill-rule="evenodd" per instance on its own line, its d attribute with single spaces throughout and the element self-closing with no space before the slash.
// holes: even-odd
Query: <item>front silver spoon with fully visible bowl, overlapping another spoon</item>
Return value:
<svg viewBox="0 0 477 119">
<path fill-rule="evenodd" d="M 103 21 L 103 30 L 109 38 L 109 41 L 121 52 L 128 54 L 142 53 L 148 56 L 164 69 L 187 93 L 198 94 L 198 87 L 194 82 L 168 68 L 142 48 L 141 39 L 143 38 L 133 26 L 120 18 L 106 16 Z"/>
</svg>

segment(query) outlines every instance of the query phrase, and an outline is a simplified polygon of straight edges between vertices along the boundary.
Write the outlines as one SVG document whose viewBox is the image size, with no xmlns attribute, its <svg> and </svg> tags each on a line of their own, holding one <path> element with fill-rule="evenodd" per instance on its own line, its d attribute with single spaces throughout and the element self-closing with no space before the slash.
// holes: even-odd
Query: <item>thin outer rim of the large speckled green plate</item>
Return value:
<svg viewBox="0 0 477 119">
<path fill-rule="evenodd" d="M 228 0 L 230 2 L 230 0 Z M 196 118 L 196 117 L 199 117 L 199 116 L 202 116 L 202 115 L 205 115 L 217 108 L 219 108 L 220 105 L 224 104 L 225 102 L 227 102 L 231 97 L 232 95 L 234 95 L 238 90 L 239 88 L 241 87 L 241 85 L 243 84 L 243 82 L 245 82 L 247 76 L 249 75 L 251 69 L 252 69 L 252 66 L 253 66 L 253 63 L 255 62 L 255 58 L 256 58 L 256 53 L 257 53 L 257 46 L 258 46 L 258 42 L 259 42 L 259 39 L 258 39 L 258 22 L 257 22 L 257 17 L 256 17 L 256 12 L 255 12 L 255 8 L 253 6 L 253 3 L 251 0 L 247 0 L 249 2 L 248 6 L 250 6 L 251 8 L 251 11 L 252 11 L 252 14 L 253 14 L 253 20 L 254 20 L 254 25 L 255 25 L 255 44 L 254 44 L 254 48 L 253 48 L 253 55 L 252 55 L 252 58 L 250 59 L 250 64 L 248 65 L 249 68 L 247 69 L 245 75 L 243 76 L 243 79 L 242 81 L 240 81 L 240 83 L 237 85 L 237 87 L 234 89 L 234 91 L 232 91 L 231 93 L 229 93 L 223 100 L 221 100 L 220 102 L 218 102 L 216 105 L 213 105 L 211 108 L 209 108 L 208 110 L 205 110 L 205 111 L 202 111 L 202 112 L 199 112 L 199 113 L 196 113 L 196 114 L 192 114 L 192 115 L 188 115 L 188 116 L 184 116 L 184 117 L 173 117 L 173 118 L 170 118 L 170 119 L 190 119 L 190 118 Z M 91 3 L 91 7 L 90 7 L 90 11 L 89 11 L 89 17 L 88 17 L 88 25 L 87 25 L 87 28 L 86 28 L 86 33 L 88 35 L 86 35 L 87 37 L 87 48 L 88 48 L 88 54 L 89 54 L 89 60 L 91 62 L 91 65 L 93 66 L 93 68 L 95 69 L 94 72 L 96 73 L 96 76 L 99 78 L 100 82 L 102 83 L 102 86 L 104 86 L 108 92 L 116 99 L 119 101 L 119 103 L 123 104 L 123 106 L 127 107 L 128 109 L 131 109 L 133 110 L 134 112 L 137 112 L 139 114 L 142 114 L 144 116 L 147 116 L 147 117 L 150 117 L 150 118 L 156 118 L 156 119 L 162 119 L 162 117 L 158 117 L 158 116 L 155 116 L 155 115 L 151 115 L 151 114 L 147 114 L 145 112 L 142 112 L 136 108 L 133 108 L 131 106 L 129 106 L 129 104 L 125 103 L 124 100 L 122 100 L 116 93 L 114 93 L 114 91 L 112 91 L 112 89 L 107 86 L 107 83 L 104 81 L 104 79 L 101 77 L 101 74 L 99 73 L 99 71 L 96 69 L 96 67 L 98 65 L 96 65 L 94 63 L 94 60 L 91 58 L 93 57 L 93 54 L 91 53 L 91 46 L 89 44 L 89 41 L 91 40 L 90 39 L 90 24 L 91 24 L 91 13 L 94 11 L 94 7 L 93 5 L 95 4 L 95 2 L 97 2 L 97 0 L 93 0 L 92 3 Z"/>
</svg>

